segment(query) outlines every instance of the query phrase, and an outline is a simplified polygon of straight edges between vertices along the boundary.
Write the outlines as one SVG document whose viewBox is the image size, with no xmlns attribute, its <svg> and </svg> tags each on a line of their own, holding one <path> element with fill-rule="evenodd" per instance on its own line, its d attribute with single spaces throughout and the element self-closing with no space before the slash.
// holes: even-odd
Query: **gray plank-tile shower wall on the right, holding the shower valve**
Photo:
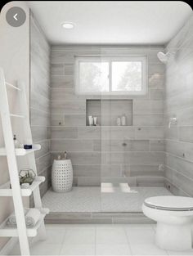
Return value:
<svg viewBox="0 0 193 256">
<path fill-rule="evenodd" d="M 166 69 L 166 186 L 177 195 L 193 196 L 193 17 L 166 51 L 174 52 Z M 171 117 L 177 117 L 177 125 L 168 128 Z"/>
</svg>

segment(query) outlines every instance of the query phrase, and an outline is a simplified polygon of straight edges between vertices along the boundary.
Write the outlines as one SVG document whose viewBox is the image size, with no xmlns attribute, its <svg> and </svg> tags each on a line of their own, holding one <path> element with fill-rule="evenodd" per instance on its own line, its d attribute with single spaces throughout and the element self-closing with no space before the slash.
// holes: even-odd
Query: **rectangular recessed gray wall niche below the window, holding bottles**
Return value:
<svg viewBox="0 0 193 256">
<path fill-rule="evenodd" d="M 88 116 L 97 117 L 100 126 L 117 126 L 117 119 L 126 117 L 126 126 L 132 125 L 132 100 L 87 100 L 86 125 Z"/>
</svg>

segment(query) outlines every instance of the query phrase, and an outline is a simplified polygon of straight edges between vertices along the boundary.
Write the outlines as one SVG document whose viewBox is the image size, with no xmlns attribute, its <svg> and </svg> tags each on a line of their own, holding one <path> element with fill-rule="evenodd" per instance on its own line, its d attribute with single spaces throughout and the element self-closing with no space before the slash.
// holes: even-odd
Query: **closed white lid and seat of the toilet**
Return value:
<svg viewBox="0 0 193 256">
<path fill-rule="evenodd" d="M 144 204 L 154 209 L 165 209 L 171 211 L 192 211 L 193 198 L 185 196 L 164 195 L 149 197 Z"/>
</svg>

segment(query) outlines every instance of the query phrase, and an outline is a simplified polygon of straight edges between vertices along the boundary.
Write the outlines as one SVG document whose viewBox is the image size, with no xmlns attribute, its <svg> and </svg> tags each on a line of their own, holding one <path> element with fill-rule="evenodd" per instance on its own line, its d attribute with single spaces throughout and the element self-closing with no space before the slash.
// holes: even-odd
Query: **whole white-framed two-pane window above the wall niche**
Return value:
<svg viewBox="0 0 193 256">
<path fill-rule="evenodd" d="M 146 56 L 76 56 L 78 94 L 145 94 Z"/>
</svg>

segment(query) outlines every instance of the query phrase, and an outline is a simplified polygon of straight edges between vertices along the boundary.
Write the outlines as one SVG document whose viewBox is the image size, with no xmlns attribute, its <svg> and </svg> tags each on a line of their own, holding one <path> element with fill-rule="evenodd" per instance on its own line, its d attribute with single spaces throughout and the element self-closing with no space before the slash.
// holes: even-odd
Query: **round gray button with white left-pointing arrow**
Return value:
<svg viewBox="0 0 193 256">
<path fill-rule="evenodd" d="M 6 20 L 12 27 L 20 27 L 26 20 L 25 11 L 20 7 L 11 7 L 6 14 Z"/>
</svg>

